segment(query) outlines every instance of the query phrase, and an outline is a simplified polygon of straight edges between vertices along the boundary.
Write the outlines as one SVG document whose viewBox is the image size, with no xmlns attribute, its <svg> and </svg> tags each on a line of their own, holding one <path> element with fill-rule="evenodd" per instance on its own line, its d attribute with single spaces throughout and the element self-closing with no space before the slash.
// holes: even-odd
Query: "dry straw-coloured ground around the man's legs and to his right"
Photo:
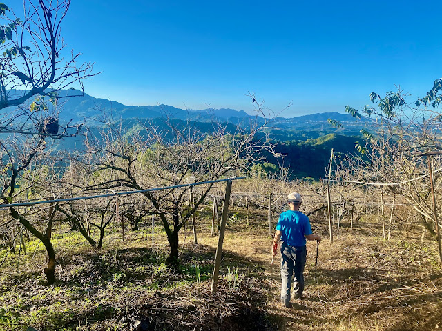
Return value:
<svg viewBox="0 0 442 331">
<path fill-rule="evenodd" d="M 327 238 L 327 237 L 325 237 Z M 204 239 L 216 245 L 216 238 Z M 265 309 L 278 330 L 438 330 L 442 274 L 434 241 L 384 241 L 362 233 L 307 243 L 305 299 L 280 305 L 279 254 L 270 265 L 267 234 L 226 234 L 224 250 L 262 265 Z"/>
</svg>

